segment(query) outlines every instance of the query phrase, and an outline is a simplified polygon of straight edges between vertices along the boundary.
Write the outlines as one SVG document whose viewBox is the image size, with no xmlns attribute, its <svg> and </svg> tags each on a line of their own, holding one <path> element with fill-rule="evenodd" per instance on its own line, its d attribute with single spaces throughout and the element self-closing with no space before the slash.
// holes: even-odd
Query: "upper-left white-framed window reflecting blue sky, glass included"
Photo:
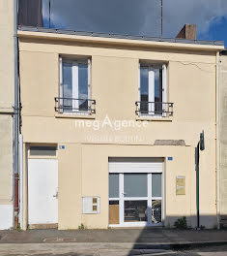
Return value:
<svg viewBox="0 0 227 256">
<path fill-rule="evenodd" d="M 60 57 L 60 112 L 91 112 L 91 60 Z"/>
</svg>

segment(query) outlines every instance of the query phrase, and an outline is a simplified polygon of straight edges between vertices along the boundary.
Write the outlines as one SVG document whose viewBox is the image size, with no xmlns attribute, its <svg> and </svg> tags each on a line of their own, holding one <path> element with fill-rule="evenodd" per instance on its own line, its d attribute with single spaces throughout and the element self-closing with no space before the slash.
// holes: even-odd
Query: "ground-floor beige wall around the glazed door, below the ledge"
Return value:
<svg viewBox="0 0 227 256">
<path fill-rule="evenodd" d="M 59 229 L 108 227 L 108 157 L 164 157 L 164 224 L 173 226 L 186 216 L 188 226 L 196 226 L 194 148 L 191 146 L 65 144 L 58 150 L 59 159 Z M 81 155 L 82 153 L 82 155 Z M 82 159 L 81 159 L 82 156 Z M 173 161 L 167 157 L 172 156 Z M 73 159 L 73 160 L 72 160 Z M 201 155 L 204 162 L 204 155 Z M 185 195 L 176 195 L 176 176 L 185 176 Z M 214 175 L 211 176 L 214 179 Z M 202 169 L 201 225 L 216 224 L 213 180 Z M 207 189 L 207 185 L 212 186 Z M 100 197 L 99 214 L 82 214 L 81 197 Z"/>
</svg>

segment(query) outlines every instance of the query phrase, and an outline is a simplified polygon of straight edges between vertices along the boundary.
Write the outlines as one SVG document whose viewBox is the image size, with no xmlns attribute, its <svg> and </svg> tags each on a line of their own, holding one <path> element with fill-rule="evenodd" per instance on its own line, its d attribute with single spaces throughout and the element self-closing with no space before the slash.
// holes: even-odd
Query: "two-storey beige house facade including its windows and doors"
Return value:
<svg viewBox="0 0 227 256">
<path fill-rule="evenodd" d="M 22 228 L 218 225 L 222 46 L 18 31 Z"/>
</svg>

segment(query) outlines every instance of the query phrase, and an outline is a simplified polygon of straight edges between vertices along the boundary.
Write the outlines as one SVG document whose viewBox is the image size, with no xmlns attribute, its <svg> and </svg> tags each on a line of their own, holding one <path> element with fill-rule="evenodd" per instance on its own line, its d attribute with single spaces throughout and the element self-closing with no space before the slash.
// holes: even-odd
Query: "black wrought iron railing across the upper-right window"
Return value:
<svg viewBox="0 0 227 256">
<path fill-rule="evenodd" d="M 173 115 L 173 103 L 137 101 L 135 105 L 135 112 L 138 115 L 159 115 L 163 117 Z"/>
</svg>

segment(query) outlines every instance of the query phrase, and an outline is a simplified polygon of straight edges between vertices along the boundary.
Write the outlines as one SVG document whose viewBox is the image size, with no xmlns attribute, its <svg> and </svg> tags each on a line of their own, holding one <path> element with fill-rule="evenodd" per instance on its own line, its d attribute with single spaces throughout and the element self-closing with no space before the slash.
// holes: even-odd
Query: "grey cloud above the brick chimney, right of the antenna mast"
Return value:
<svg viewBox="0 0 227 256">
<path fill-rule="evenodd" d="M 216 17 L 226 14 L 226 0 L 163 0 L 163 33 L 175 37 L 185 23 L 190 23 L 197 25 L 200 37 L 208 33 Z"/>
</svg>

